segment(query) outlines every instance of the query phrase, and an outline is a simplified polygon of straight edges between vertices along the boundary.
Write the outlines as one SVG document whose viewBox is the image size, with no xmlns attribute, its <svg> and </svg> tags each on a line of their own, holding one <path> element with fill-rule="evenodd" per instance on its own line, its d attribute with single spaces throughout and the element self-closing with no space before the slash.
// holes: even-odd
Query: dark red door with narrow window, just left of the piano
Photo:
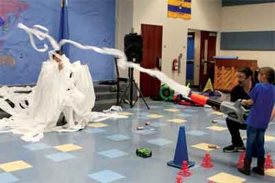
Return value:
<svg viewBox="0 0 275 183">
<path fill-rule="evenodd" d="M 201 56 L 199 69 L 199 89 L 202 90 L 208 79 L 214 82 L 214 56 L 216 56 L 216 32 L 201 32 Z"/>
</svg>

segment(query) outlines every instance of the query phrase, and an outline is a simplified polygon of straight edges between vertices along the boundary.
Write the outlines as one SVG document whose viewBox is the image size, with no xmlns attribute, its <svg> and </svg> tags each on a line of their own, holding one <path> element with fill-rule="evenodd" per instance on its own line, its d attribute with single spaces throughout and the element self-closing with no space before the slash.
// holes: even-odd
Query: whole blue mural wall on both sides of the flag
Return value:
<svg viewBox="0 0 275 183">
<path fill-rule="evenodd" d="M 114 47 L 115 0 L 68 1 L 70 39 L 85 45 Z M 0 65 L 0 85 L 36 83 L 41 64 L 43 60 L 47 60 L 47 53 L 34 51 L 28 35 L 16 26 L 19 22 L 28 26 L 41 24 L 57 38 L 60 1 L 11 0 L 8 4 L 0 1 L 0 4 L 4 8 L 10 8 L 10 12 L 6 14 L 8 18 L 0 17 L 0 64 L 5 61 L 3 56 L 16 61 L 14 66 Z M 17 9 L 12 10 L 12 5 L 16 5 Z M 0 12 L 3 9 L 0 8 Z M 43 42 L 39 42 L 38 45 L 42 47 Z M 71 46 L 70 59 L 87 62 L 94 80 L 114 78 L 114 63 L 111 56 Z"/>
</svg>

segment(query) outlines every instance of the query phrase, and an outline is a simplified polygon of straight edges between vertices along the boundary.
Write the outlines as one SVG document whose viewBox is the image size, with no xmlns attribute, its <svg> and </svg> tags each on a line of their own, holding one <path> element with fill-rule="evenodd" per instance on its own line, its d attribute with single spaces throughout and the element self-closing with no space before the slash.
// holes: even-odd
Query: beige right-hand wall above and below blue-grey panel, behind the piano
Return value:
<svg viewBox="0 0 275 183">
<path fill-rule="evenodd" d="M 238 5 L 221 8 L 221 32 L 275 30 L 275 3 Z M 219 45 L 219 44 L 218 44 Z M 258 60 L 259 66 L 275 68 L 275 51 L 224 51 L 221 56 Z"/>
</svg>

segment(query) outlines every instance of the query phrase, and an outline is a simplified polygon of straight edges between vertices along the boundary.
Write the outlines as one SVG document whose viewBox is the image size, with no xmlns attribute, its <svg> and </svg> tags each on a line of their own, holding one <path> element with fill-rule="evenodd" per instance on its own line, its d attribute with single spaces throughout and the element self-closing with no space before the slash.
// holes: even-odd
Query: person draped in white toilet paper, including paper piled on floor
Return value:
<svg viewBox="0 0 275 183">
<path fill-rule="evenodd" d="M 49 51 L 49 59 L 42 64 L 36 86 L 28 88 L 32 90 L 30 94 L 19 95 L 14 93 L 16 90 L 22 88 L 0 88 L 3 95 L 0 108 L 12 115 L 0 120 L 0 130 L 22 134 L 23 141 L 40 141 L 43 132 L 74 132 L 90 121 L 122 118 L 110 112 L 121 110 L 115 106 L 108 113 L 91 112 L 96 97 L 89 67 L 80 61 L 69 62 L 61 51 Z M 5 99 L 12 101 L 14 108 Z M 67 124 L 56 126 L 62 112 Z"/>
</svg>

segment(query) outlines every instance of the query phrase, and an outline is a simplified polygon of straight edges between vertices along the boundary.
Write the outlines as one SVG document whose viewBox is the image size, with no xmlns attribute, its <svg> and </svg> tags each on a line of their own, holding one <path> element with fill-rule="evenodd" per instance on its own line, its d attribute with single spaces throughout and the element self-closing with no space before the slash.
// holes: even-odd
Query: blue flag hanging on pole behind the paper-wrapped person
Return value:
<svg viewBox="0 0 275 183">
<path fill-rule="evenodd" d="M 61 17 L 58 41 L 62 39 L 69 39 L 69 17 L 68 17 L 68 4 L 67 0 L 61 0 Z M 61 47 L 63 53 L 69 58 L 69 44 Z"/>
</svg>

